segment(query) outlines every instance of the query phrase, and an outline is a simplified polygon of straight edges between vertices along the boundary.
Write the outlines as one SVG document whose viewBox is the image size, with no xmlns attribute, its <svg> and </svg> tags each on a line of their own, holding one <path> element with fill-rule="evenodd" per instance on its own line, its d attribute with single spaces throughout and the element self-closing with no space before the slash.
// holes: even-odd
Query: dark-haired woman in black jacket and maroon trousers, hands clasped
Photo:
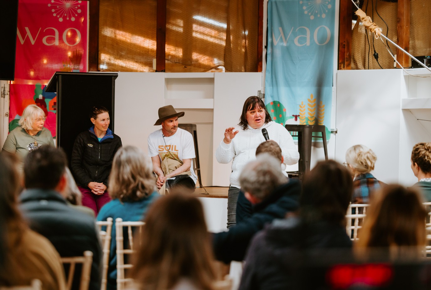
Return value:
<svg viewBox="0 0 431 290">
<path fill-rule="evenodd" d="M 95 215 L 109 202 L 107 190 L 112 159 L 122 146 L 121 139 L 108 128 L 109 112 L 95 106 L 90 113 L 94 126 L 80 133 L 72 150 L 71 167 L 82 193 L 82 205 L 94 210 Z"/>
</svg>

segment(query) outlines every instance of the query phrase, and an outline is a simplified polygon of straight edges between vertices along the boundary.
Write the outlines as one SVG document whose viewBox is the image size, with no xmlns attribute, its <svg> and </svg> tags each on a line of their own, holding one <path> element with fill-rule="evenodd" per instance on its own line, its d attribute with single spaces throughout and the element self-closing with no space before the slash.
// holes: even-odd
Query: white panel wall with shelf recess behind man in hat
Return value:
<svg viewBox="0 0 431 290">
<path fill-rule="evenodd" d="M 115 133 L 123 145 L 147 152 L 159 107 L 184 111 L 180 123 L 197 125 L 203 186 L 229 186 L 230 164 L 215 160 L 225 128 L 239 122 L 247 97 L 262 86 L 262 73 L 119 72 L 115 88 Z"/>
</svg>

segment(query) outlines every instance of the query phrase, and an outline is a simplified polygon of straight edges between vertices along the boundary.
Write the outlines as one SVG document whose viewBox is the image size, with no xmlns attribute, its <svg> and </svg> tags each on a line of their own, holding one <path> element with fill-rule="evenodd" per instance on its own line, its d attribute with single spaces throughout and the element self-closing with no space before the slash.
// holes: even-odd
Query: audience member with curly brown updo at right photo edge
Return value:
<svg viewBox="0 0 431 290">
<path fill-rule="evenodd" d="M 418 178 L 423 201 L 431 202 L 431 143 L 417 143 L 412 150 L 412 171 Z"/>
</svg>

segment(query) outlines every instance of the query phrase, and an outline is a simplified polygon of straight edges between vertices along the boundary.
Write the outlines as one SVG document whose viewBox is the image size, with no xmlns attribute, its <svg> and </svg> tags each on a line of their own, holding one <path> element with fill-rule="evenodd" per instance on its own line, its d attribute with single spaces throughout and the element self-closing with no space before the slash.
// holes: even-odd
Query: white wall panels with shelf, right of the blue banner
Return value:
<svg viewBox="0 0 431 290">
<path fill-rule="evenodd" d="M 414 80 L 397 69 L 337 72 L 337 161 L 344 162 L 350 146 L 363 144 L 377 155 L 372 172 L 377 179 L 406 186 L 417 181 L 410 168 L 412 147 L 430 142 L 431 135 L 410 110 L 402 107 L 403 100 L 421 95 Z"/>
</svg>

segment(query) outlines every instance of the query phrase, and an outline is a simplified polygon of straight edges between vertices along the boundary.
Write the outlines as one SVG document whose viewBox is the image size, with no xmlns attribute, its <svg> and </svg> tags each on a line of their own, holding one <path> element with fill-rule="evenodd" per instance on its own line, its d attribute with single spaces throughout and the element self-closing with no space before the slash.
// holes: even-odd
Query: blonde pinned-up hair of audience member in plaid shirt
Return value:
<svg viewBox="0 0 431 290">
<path fill-rule="evenodd" d="M 376 160 L 377 156 L 373 150 L 364 145 L 354 145 L 346 152 L 346 162 L 360 174 L 374 170 Z"/>
</svg>

